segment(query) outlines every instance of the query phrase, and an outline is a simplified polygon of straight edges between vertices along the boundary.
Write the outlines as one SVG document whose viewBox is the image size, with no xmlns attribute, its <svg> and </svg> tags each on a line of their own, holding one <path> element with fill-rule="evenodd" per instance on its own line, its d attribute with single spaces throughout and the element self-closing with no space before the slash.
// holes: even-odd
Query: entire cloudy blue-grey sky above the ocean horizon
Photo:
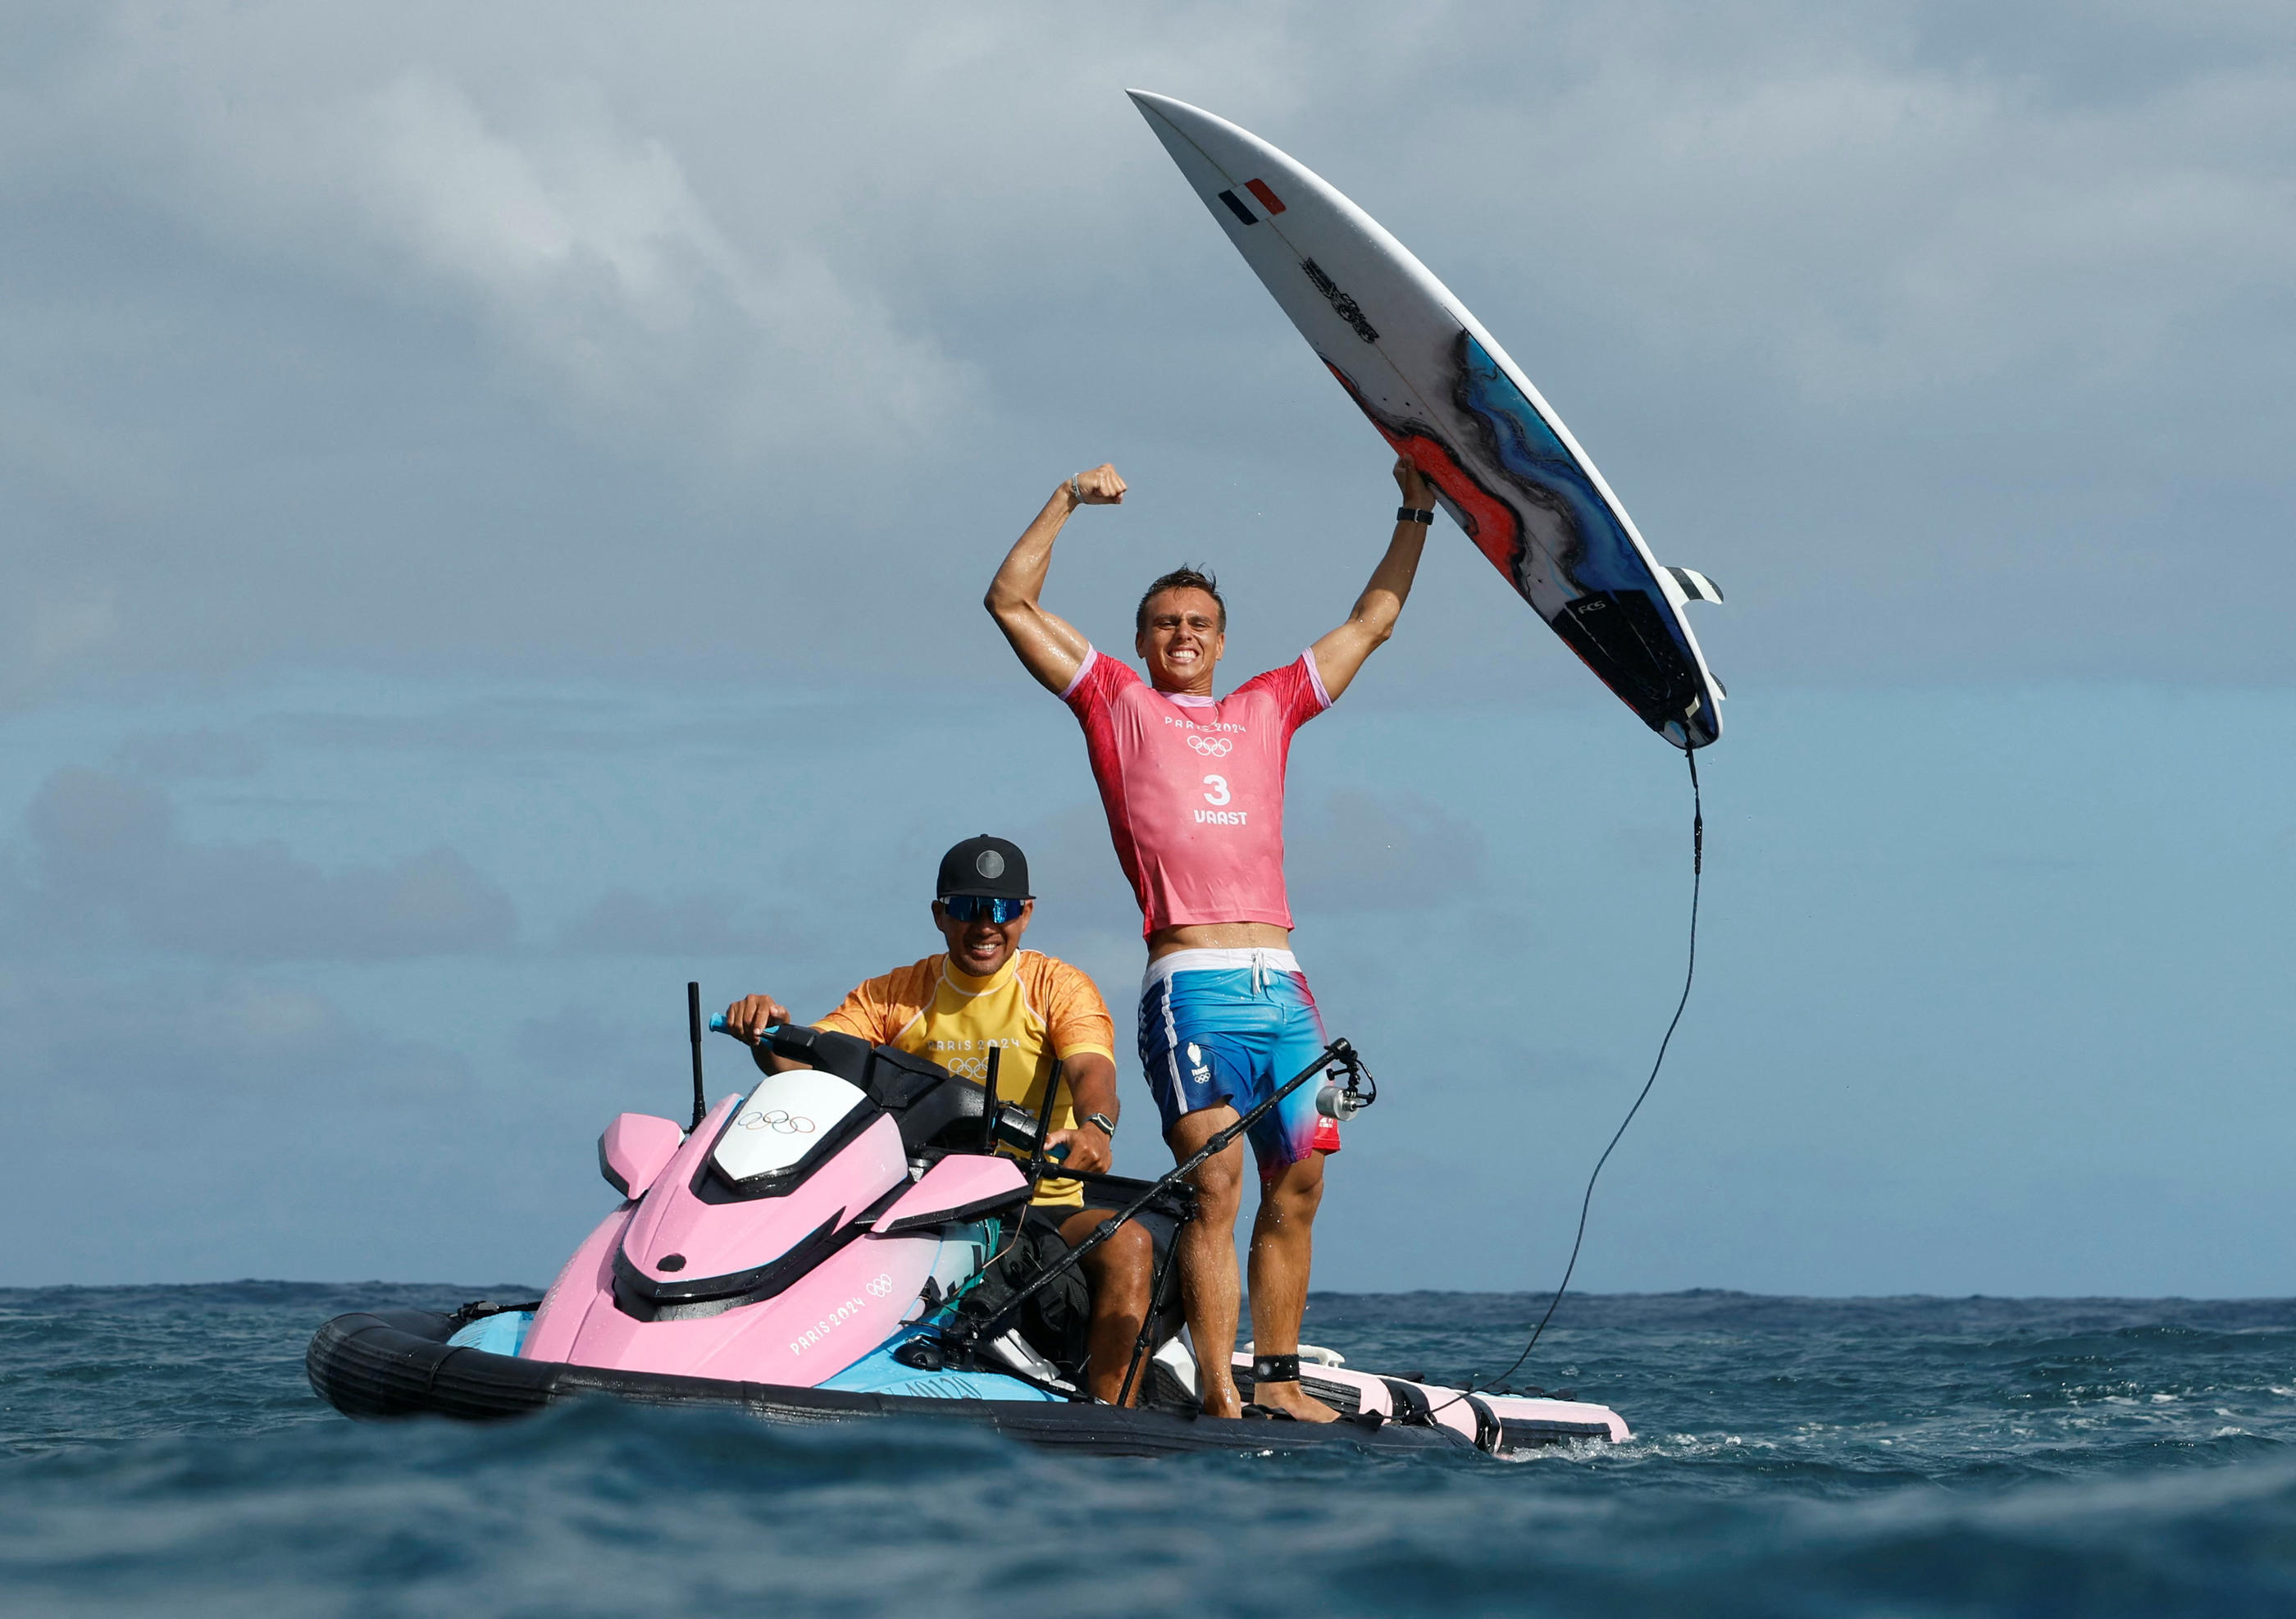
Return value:
<svg viewBox="0 0 2296 1619">
<path fill-rule="evenodd" d="M 2291 1288 L 2285 7 L 833 11 L 16 7 L 0 1284 L 546 1281 L 684 983 L 827 1010 L 983 829 L 1127 1022 L 996 558 L 1109 459 L 1049 604 L 1123 648 L 1215 565 L 1240 680 L 1394 510 L 1148 87 L 1412 246 L 1729 597 L 1577 1284 Z M 1293 753 L 1382 1079 L 1320 1286 L 1552 1286 L 1688 799 L 1437 524 Z"/>
</svg>

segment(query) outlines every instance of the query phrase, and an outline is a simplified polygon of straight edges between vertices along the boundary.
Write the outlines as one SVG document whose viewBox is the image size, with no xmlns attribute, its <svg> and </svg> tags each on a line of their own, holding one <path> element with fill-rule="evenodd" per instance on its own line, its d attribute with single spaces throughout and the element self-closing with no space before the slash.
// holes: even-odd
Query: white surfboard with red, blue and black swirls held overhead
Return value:
<svg viewBox="0 0 2296 1619">
<path fill-rule="evenodd" d="M 1722 735 L 1688 602 L 1603 473 L 1451 289 L 1304 163 L 1203 108 L 1127 92 L 1316 356 L 1564 645 L 1678 749 Z"/>
</svg>

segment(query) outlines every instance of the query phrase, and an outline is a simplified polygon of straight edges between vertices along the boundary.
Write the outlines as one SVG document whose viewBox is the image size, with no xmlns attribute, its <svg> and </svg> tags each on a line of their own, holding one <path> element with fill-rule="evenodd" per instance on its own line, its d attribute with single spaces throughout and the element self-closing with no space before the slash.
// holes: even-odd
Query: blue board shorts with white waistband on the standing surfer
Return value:
<svg viewBox="0 0 2296 1619">
<path fill-rule="evenodd" d="M 1141 1068 L 1166 1139 L 1205 1107 L 1251 1111 L 1322 1047 L 1322 1015 L 1290 951 L 1173 951 L 1148 962 Z M 1316 1111 L 1320 1089 L 1309 1079 L 1251 1125 L 1261 1180 L 1339 1151 L 1339 1125 Z"/>
</svg>

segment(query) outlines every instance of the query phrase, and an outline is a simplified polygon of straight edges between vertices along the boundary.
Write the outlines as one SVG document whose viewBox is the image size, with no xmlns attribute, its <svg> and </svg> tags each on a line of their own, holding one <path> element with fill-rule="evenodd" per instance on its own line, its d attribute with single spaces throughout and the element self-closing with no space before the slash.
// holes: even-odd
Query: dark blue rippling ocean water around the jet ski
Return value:
<svg viewBox="0 0 2296 1619">
<path fill-rule="evenodd" d="M 305 1387 L 321 1318 L 480 1295 L 533 1297 L 0 1291 L 0 1614 L 2296 1614 L 2296 1300 L 1573 1297 L 1518 1380 L 1637 1438 L 1534 1461 Z M 1309 1337 L 1460 1376 L 1536 1302 L 1316 1295 Z"/>
</svg>

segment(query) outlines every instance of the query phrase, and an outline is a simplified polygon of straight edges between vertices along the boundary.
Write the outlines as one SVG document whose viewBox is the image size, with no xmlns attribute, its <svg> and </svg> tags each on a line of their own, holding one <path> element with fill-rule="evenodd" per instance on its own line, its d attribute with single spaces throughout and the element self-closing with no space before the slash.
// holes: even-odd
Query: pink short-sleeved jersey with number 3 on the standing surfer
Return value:
<svg viewBox="0 0 2296 1619">
<path fill-rule="evenodd" d="M 1332 707 L 1313 652 L 1215 703 L 1155 691 L 1088 650 L 1061 700 L 1084 726 L 1141 932 L 1208 921 L 1290 928 L 1283 765 L 1293 733 Z"/>
</svg>

